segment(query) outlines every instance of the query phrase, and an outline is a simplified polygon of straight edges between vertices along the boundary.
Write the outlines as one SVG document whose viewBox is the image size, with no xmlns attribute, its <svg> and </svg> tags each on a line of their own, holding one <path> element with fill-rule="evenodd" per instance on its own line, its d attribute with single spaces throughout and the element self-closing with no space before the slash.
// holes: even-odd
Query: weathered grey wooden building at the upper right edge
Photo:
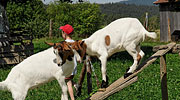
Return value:
<svg viewBox="0 0 180 100">
<path fill-rule="evenodd" d="M 160 10 L 160 41 L 180 41 L 180 0 L 157 0 Z"/>
</svg>

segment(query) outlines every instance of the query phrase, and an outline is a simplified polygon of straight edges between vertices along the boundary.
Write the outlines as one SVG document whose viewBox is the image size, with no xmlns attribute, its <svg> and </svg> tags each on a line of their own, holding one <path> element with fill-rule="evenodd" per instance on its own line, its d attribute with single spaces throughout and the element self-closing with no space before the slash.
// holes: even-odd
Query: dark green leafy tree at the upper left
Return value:
<svg viewBox="0 0 180 100">
<path fill-rule="evenodd" d="M 46 9 L 41 0 L 26 0 L 25 2 L 10 1 L 7 15 L 11 31 L 28 31 L 34 37 L 44 37 L 48 32 Z"/>
</svg>

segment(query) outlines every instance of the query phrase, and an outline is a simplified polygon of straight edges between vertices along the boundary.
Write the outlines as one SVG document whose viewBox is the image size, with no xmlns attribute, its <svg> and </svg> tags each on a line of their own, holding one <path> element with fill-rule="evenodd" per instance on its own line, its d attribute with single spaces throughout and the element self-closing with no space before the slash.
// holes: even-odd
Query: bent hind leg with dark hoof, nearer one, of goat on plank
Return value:
<svg viewBox="0 0 180 100">
<path fill-rule="evenodd" d="M 136 45 L 135 44 L 128 45 L 126 47 L 126 50 L 133 57 L 134 63 L 129 68 L 127 73 L 124 75 L 124 78 L 128 77 L 129 75 L 131 75 L 136 70 L 136 67 L 138 65 L 138 59 L 137 59 L 138 58 L 138 51 L 136 50 Z"/>
</svg>

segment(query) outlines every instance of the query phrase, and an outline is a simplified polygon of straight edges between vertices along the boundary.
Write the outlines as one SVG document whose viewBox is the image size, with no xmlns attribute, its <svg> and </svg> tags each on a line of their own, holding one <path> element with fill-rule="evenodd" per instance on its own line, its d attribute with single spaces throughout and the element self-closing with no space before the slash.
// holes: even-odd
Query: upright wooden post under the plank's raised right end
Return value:
<svg viewBox="0 0 180 100">
<path fill-rule="evenodd" d="M 168 100 L 166 54 L 160 57 L 160 74 L 162 100 Z"/>
</svg>

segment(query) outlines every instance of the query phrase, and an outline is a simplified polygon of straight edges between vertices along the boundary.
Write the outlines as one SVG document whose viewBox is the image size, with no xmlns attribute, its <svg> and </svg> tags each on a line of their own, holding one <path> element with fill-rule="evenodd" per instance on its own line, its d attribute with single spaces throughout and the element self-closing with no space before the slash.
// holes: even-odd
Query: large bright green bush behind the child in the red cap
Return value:
<svg viewBox="0 0 180 100">
<path fill-rule="evenodd" d="M 87 37 L 100 28 L 103 15 L 99 5 L 90 3 L 51 3 L 47 8 L 53 20 L 53 35 L 60 33 L 59 27 L 70 24 L 74 27 L 75 37 Z"/>
</svg>

